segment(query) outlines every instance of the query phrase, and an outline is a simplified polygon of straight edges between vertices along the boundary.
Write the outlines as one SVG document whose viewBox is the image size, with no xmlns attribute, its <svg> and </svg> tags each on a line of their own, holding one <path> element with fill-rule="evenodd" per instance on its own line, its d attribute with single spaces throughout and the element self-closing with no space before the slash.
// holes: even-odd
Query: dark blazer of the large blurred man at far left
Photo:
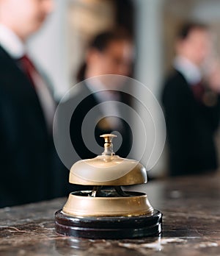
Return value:
<svg viewBox="0 0 220 256">
<path fill-rule="evenodd" d="M 37 93 L 1 46 L 0 141 L 0 207 L 56 196 L 59 160 Z"/>
</svg>

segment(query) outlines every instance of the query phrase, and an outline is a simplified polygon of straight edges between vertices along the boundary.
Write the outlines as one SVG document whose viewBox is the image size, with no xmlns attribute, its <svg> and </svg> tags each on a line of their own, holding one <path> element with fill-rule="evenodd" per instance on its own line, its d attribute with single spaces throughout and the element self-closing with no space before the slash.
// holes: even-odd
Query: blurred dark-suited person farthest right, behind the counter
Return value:
<svg viewBox="0 0 220 256">
<path fill-rule="evenodd" d="M 219 127 L 220 69 L 213 65 L 209 74 L 202 71 L 211 43 L 204 24 L 185 24 L 177 35 L 174 70 L 162 95 L 172 176 L 218 168 L 213 137 Z"/>
</svg>

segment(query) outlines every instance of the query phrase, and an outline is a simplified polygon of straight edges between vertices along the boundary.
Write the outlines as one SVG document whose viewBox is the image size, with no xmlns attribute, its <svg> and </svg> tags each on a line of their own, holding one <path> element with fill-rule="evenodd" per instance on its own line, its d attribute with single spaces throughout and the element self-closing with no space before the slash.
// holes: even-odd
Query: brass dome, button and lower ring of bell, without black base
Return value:
<svg viewBox="0 0 220 256">
<path fill-rule="evenodd" d="M 153 207 L 145 193 L 122 191 L 121 185 L 147 182 L 147 171 L 136 160 L 114 154 L 112 139 L 116 135 L 101 135 L 105 139 L 104 152 L 93 159 L 81 160 L 70 169 L 70 183 L 93 185 L 92 191 L 70 193 L 62 209 L 67 216 L 111 217 L 153 215 Z M 113 186 L 111 191 L 103 186 Z"/>
</svg>

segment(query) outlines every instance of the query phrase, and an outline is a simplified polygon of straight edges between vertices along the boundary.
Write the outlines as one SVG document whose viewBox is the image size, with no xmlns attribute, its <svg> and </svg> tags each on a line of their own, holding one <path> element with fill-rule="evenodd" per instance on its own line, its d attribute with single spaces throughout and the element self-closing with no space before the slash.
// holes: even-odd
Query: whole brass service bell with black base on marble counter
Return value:
<svg viewBox="0 0 220 256">
<path fill-rule="evenodd" d="M 114 154 L 112 139 L 101 135 L 104 152 L 80 160 L 70 169 L 70 183 L 92 185 L 91 191 L 70 193 L 55 213 L 56 232 L 82 238 L 136 238 L 161 233 L 162 214 L 145 193 L 123 191 L 121 186 L 147 182 L 147 171 L 136 160 Z"/>
</svg>

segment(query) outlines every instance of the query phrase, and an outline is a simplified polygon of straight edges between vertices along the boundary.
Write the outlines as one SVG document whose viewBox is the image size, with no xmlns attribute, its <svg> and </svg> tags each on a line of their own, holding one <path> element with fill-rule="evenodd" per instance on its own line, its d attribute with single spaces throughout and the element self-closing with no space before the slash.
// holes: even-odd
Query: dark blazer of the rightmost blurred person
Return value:
<svg viewBox="0 0 220 256">
<path fill-rule="evenodd" d="M 169 145 L 170 174 L 199 174 L 217 168 L 213 135 L 219 126 L 220 100 L 208 107 L 174 71 L 162 95 Z"/>
</svg>

